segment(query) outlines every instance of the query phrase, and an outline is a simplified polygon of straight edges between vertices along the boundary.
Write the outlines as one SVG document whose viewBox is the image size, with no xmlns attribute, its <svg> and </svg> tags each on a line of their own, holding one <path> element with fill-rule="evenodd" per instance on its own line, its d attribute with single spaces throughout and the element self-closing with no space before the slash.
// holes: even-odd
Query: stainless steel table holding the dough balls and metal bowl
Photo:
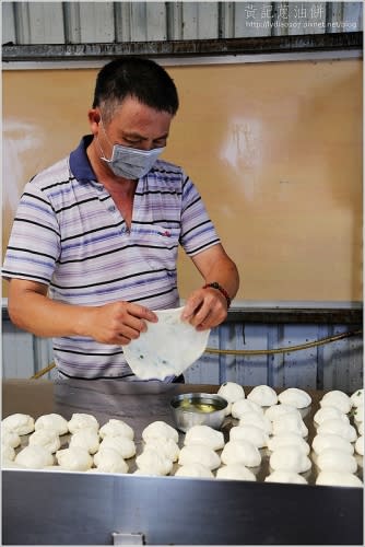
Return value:
<svg viewBox="0 0 365 547">
<path fill-rule="evenodd" d="M 173 423 L 177 393 L 217 386 L 118 381 L 4 381 L 13 412 L 125 419 L 137 444 L 154 420 Z M 248 389 L 247 389 L 248 391 Z M 309 392 L 314 400 L 319 392 Z M 306 420 L 306 418 L 305 418 Z M 224 427 L 227 435 L 231 423 Z M 259 480 L 5 470 L 3 545 L 362 545 L 363 491 Z M 117 533 L 117 535 L 113 535 Z"/>
</svg>

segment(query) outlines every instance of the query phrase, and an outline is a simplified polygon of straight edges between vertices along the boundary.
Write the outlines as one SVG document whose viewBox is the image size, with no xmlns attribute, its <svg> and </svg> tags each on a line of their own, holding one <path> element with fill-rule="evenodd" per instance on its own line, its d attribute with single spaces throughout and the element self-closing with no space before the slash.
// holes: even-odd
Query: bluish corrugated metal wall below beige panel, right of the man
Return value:
<svg viewBox="0 0 365 547">
<path fill-rule="evenodd" d="M 360 328 L 360 327 L 358 327 Z M 355 329 L 352 325 L 224 324 L 212 330 L 209 347 L 270 350 L 290 348 Z M 215 356 L 204 353 L 186 373 L 189 383 L 303 389 L 343 389 L 363 386 L 362 337 L 345 338 L 315 348 L 270 356 Z"/>
</svg>

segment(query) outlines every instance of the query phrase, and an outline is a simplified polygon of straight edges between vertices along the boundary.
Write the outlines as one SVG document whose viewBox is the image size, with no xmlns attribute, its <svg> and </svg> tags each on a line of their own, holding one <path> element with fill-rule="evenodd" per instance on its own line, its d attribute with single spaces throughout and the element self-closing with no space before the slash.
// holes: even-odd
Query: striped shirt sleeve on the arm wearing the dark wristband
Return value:
<svg viewBox="0 0 365 547">
<path fill-rule="evenodd" d="M 185 175 L 182 183 L 180 244 L 187 255 L 193 256 L 220 243 L 199 191 Z"/>
</svg>

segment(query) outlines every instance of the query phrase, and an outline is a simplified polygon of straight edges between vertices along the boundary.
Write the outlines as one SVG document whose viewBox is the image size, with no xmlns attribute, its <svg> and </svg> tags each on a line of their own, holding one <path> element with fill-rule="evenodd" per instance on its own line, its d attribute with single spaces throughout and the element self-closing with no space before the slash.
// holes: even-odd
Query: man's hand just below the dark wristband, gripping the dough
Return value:
<svg viewBox="0 0 365 547">
<path fill-rule="evenodd" d="M 227 301 L 216 289 L 197 289 L 188 298 L 181 318 L 197 330 L 205 330 L 220 325 L 227 316 Z"/>
</svg>

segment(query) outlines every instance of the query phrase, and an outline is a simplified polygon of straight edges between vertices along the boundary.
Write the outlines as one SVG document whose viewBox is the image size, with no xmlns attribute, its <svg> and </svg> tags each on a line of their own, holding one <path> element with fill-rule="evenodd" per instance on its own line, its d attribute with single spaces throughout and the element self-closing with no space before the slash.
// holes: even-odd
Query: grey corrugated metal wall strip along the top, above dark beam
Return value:
<svg viewBox="0 0 365 547">
<path fill-rule="evenodd" d="M 2 2 L 2 43 L 237 38 L 363 30 L 362 2 Z"/>
</svg>

